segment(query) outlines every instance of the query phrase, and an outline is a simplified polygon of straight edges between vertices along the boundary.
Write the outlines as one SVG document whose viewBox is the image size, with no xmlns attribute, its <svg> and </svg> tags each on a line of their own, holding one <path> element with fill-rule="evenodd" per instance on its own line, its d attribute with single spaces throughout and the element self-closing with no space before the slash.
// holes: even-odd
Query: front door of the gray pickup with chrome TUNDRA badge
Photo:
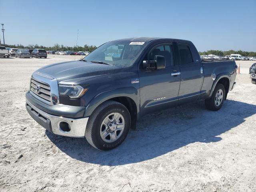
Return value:
<svg viewBox="0 0 256 192">
<path fill-rule="evenodd" d="M 166 68 L 147 70 L 140 64 L 140 105 L 141 113 L 146 114 L 162 110 L 178 104 L 180 88 L 180 67 L 174 65 L 174 51 L 172 43 L 161 43 L 152 46 L 144 60 L 154 60 L 155 55 L 164 56 Z"/>
</svg>

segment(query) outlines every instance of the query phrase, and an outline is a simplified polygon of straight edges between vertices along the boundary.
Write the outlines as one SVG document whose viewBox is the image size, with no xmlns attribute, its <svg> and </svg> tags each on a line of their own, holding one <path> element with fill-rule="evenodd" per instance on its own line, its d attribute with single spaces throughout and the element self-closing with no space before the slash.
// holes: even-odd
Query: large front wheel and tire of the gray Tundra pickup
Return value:
<svg viewBox="0 0 256 192">
<path fill-rule="evenodd" d="M 118 118 L 114 118 L 114 116 L 118 116 Z M 105 126 L 103 121 L 112 127 Z M 116 130 L 118 124 L 122 130 Z M 130 126 L 131 116 L 128 109 L 119 102 L 106 101 L 98 106 L 89 117 L 85 138 L 91 146 L 98 150 L 111 150 L 125 140 Z M 106 136 L 103 136 L 104 133 Z"/>
</svg>

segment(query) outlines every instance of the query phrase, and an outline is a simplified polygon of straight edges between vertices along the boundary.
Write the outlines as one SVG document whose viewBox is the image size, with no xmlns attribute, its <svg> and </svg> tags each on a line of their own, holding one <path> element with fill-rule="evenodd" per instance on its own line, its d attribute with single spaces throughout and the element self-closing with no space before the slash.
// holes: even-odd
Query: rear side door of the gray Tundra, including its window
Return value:
<svg viewBox="0 0 256 192">
<path fill-rule="evenodd" d="M 203 71 L 200 59 L 193 58 L 190 44 L 178 43 L 180 56 L 180 91 L 178 94 L 179 104 L 196 100 L 200 96 Z M 195 55 L 195 53 L 194 53 Z"/>
</svg>

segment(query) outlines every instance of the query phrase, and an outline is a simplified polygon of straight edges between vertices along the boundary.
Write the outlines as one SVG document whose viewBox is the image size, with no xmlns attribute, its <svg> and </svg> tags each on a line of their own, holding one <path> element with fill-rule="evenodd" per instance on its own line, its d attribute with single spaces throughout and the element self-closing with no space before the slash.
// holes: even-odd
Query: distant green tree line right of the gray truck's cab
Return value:
<svg viewBox="0 0 256 192">
<path fill-rule="evenodd" d="M 229 51 L 220 51 L 220 50 L 208 50 L 204 52 L 199 52 L 200 55 L 217 55 L 217 56 L 226 56 L 230 54 L 240 54 L 244 57 L 256 57 L 256 52 L 248 52 L 248 51 L 242 51 L 242 50 L 229 50 Z"/>
</svg>

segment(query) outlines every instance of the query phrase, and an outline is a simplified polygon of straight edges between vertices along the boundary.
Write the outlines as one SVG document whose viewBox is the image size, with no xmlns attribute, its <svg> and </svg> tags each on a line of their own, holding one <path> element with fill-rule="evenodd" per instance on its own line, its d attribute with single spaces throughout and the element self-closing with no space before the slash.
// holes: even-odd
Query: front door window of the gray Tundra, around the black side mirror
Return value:
<svg viewBox="0 0 256 192">
<path fill-rule="evenodd" d="M 174 65 L 174 56 L 171 44 L 164 44 L 153 48 L 153 50 L 148 54 L 148 60 L 154 60 L 156 55 L 165 57 L 166 68 Z"/>
</svg>

